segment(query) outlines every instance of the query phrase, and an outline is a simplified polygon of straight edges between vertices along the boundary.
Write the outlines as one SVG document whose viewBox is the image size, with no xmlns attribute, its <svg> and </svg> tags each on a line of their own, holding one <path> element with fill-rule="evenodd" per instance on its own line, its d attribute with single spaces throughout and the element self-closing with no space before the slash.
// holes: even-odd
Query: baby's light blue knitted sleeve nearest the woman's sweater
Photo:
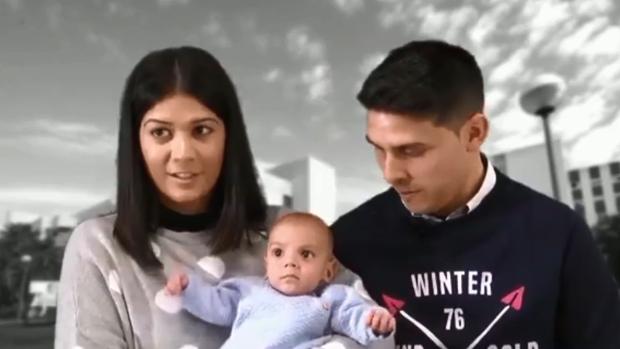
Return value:
<svg viewBox="0 0 620 349">
<path fill-rule="evenodd" d="M 219 326 L 232 326 L 237 307 L 249 284 L 233 278 L 211 285 L 200 276 L 190 273 L 183 291 L 183 307 L 194 316 Z"/>
</svg>

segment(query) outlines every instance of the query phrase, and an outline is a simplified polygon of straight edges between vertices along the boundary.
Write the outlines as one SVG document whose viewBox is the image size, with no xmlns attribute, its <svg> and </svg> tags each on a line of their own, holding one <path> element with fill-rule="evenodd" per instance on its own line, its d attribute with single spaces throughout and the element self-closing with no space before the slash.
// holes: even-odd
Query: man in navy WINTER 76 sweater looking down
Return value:
<svg viewBox="0 0 620 349">
<path fill-rule="evenodd" d="M 394 49 L 358 100 L 391 188 L 334 223 L 335 251 L 397 316 L 397 348 L 620 348 L 617 285 L 588 227 L 481 153 L 469 52 Z"/>
</svg>

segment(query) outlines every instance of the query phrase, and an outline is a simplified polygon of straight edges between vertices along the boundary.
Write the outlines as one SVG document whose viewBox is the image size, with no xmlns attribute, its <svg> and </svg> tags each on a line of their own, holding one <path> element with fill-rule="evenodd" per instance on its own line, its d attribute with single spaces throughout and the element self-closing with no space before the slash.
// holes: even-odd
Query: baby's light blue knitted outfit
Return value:
<svg viewBox="0 0 620 349">
<path fill-rule="evenodd" d="M 379 339 L 366 320 L 373 305 L 345 285 L 320 295 L 287 296 L 263 278 L 233 278 L 217 286 L 190 274 L 183 306 L 198 318 L 232 326 L 222 349 L 302 349 L 339 333 L 363 345 Z"/>
</svg>

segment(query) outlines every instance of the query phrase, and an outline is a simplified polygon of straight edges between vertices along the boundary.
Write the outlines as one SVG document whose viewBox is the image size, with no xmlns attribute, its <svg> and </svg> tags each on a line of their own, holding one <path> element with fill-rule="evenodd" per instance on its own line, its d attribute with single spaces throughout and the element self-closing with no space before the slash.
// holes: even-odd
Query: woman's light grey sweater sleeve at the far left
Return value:
<svg viewBox="0 0 620 349">
<path fill-rule="evenodd" d="M 120 295 L 118 274 L 105 275 L 93 258 L 96 231 L 78 226 L 67 244 L 59 282 L 54 347 L 129 348 L 113 292 Z M 115 277 L 116 276 L 116 277 Z"/>
</svg>

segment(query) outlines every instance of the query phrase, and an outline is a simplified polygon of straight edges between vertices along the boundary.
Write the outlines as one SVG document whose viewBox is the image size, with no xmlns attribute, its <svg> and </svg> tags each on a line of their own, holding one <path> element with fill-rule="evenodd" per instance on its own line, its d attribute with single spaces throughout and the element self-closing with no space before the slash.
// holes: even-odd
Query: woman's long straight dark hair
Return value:
<svg viewBox="0 0 620 349">
<path fill-rule="evenodd" d="M 174 94 L 199 100 L 222 119 L 224 161 L 209 210 L 219 217 L 210 240 L 213 253 L 238 248 L 244 235 L 264 229 L 266 203 L 235 87 L 220 63 L 195 47 L 146 55 L 127 78 L 121 100 L 114 236 L 142 267 L 161 267 L 149 237 L 159 223 L 159 195 L 146 170 L 139 141 L 144 114 Z"/>
</svg>

